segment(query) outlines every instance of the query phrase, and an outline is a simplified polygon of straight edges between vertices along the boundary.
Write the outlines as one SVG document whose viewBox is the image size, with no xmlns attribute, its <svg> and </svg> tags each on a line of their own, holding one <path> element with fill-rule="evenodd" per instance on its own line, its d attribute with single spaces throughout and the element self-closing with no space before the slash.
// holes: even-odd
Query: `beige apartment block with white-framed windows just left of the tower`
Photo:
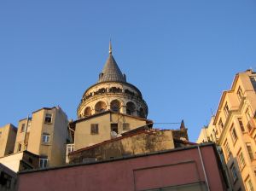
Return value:
<svg viewBox="0 0 256 191">
<path fill-rule="evenodd" d="M 32 113 L 32 118 L 19 121 L 15 153 L 27 150 L 39 155 L 39 166 L 65 164 L 67 115 L 61 107 L 44 107 Z"/>
</svg>

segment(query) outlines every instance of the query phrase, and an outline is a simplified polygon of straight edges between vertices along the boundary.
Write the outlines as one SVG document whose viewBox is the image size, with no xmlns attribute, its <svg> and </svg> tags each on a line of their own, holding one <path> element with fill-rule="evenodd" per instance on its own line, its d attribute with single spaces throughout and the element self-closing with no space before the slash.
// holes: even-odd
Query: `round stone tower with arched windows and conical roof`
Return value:
<svg viewBox="0 0 256 191">
<path fill-rule="evenodd" d="M 142 93 L 136 86 L 126 82 L 125 74 L 114 60 L 111 42 L 108 60 L 99 74 L 98 82 L 85 90 L 77 115 L 78 119 L 82 119 L 107 110 L 144 119 L 148 115 L 148 106 Z"/>
</svg>

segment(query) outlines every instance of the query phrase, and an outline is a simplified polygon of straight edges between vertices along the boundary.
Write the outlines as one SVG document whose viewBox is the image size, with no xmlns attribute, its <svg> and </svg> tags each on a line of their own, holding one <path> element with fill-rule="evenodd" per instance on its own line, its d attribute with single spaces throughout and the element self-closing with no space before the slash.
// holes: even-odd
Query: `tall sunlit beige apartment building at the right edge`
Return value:
<svg viewBox="0 0 256 191">
<path fill-rule="evenodd" d="M 197 142 L 216 142 L 224 154 L 232 190 L 256 190 L 256 73 L 236 74 L 215 116 Z M 221 152 L 220 152 L 221 153 Z"/>
</svg>

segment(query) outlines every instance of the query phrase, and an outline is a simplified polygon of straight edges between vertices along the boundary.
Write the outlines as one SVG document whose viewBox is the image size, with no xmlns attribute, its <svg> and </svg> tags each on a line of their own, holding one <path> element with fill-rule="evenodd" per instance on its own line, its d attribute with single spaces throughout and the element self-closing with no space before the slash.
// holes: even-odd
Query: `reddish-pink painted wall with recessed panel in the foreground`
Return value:
<svg viewBox="0 0 256 191">
<path fill-rule="evenodd" d="M 212 145 L 201 147 L 201 154 L 209 188 L 212 191 L 224 190 Z M 179 188 L 180 191 L 206 190 L 206 177 L 196 147 L 98 164 L 20 173 L 18 182 L 19 191 L 130 191 L 164 187 L 170 187 L 169 190 Z"/>
</svg>

